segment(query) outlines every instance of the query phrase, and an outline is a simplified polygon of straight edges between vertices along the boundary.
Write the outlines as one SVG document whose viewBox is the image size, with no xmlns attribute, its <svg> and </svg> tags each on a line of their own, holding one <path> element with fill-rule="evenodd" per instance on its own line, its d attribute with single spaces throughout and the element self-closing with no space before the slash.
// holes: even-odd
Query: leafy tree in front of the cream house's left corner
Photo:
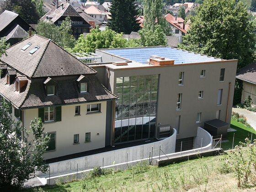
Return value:
<svg viewBox="0 0 256 192">
<path fill-rule="evenodd" d="M 43 153 L 48 147 L 49 136 L 43 134 L 41 119 L 30 123 L 30 131 L 22 129 L 21 122 L 15 122 L 12 118 L 11 108 L 11 103 L 0 101 L 1 191 L 18 191 L 35 171 L 46 172 L 48 169 L 43 161 Z"/>
</svg>

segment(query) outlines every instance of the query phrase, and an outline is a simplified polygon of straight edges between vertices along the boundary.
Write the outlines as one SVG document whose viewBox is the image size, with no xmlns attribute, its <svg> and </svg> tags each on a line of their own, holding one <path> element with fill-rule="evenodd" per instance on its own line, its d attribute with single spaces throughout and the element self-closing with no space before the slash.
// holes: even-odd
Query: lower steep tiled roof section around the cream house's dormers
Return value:
<svg viewBox="0 0 256 192">
<path fill-rule="evenodd" d="M 80 94 L 75 82 L 78 77 L 79 75 L 52 78 L 56 82 L 56 96 L 46 96 L 43 84 L 46 78 L 28 80 L 26 90 L 18 93 L 15 91 L 15 83 L 5 85 L 5 75 L 0 79 L 0 94 L 20 109 L 117 99 L 117 96 L 99 83 L 95 75 L 86 75 L 89 91 Z"/>
</svg>

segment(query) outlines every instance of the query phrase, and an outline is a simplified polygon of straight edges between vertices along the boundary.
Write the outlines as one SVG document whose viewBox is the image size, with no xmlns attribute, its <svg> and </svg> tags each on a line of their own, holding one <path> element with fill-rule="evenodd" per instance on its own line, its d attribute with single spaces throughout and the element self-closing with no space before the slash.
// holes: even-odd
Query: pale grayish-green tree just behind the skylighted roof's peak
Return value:
<svg viewBox="0 0 256 192">
<path fill-rule="evenodd" d="M 71 20 L 69 17 L 66 17 L 60 26 L 56 26 L 51 21 L 39 21 L 36 31 L 38 35 L 53 40 L 65 49 L 74 48 L 75 46 L 75 37 L 72 35 Z"/>
</svg>

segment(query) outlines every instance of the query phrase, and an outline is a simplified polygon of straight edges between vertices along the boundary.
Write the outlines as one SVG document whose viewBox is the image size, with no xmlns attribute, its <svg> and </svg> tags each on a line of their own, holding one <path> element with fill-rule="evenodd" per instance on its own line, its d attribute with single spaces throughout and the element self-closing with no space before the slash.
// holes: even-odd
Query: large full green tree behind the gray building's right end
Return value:
<svg viewBox="0 0 256 192">
<path fill-rule="evenodd" d="M 179 48 L 221 59 L 239 59 L 237 69 L 255 59 L 255 25 L 235 0 L 204 0 Z"/>
</svg>

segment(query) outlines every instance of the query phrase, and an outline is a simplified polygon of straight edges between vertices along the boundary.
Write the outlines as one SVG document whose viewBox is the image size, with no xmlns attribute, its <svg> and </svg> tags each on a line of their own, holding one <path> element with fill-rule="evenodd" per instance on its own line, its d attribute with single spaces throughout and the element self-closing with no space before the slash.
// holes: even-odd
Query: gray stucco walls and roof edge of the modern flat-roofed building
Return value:
<svg viewBox="0 0 256 192">
<path fill-rule="evenodd" d="M 171 128 L 176 128 L 177 139 L 195 137 L 197 127 L 203 128 L 204 122 L 215 118 L 230 123 L 237 60 L 212 58 L 210 61 L 202 62 L 199 58 L 192 63 L 142 66 L 139 62 L 107 53 L 106 49 L 97 49 L 96 54 L 101 55 L 101 64 L 90 66 L 98 72 L 97 77 L 101 83 L 114 94 L 118 77 L 159 75 L 156 125 L 170 125 Z M 126 61 L 128 65 L 112 64 L 117 61 Z M 220 80 L 221 69 L 225 71 L 224 80 Z M 182 85 L 179 85 L 180 72 L 184 72 Z M 221 93 L 219 90 L 222 90 Z M 201 98 L 198 98 L 199 91 L 203 91 Z M 177 109 L 177 96 L 180 93 L 181 108 Z M 221 102 L 219 105 L 218 96 Z M 112 119 L 112 131 L 113 123 Z"/>
</svg>

